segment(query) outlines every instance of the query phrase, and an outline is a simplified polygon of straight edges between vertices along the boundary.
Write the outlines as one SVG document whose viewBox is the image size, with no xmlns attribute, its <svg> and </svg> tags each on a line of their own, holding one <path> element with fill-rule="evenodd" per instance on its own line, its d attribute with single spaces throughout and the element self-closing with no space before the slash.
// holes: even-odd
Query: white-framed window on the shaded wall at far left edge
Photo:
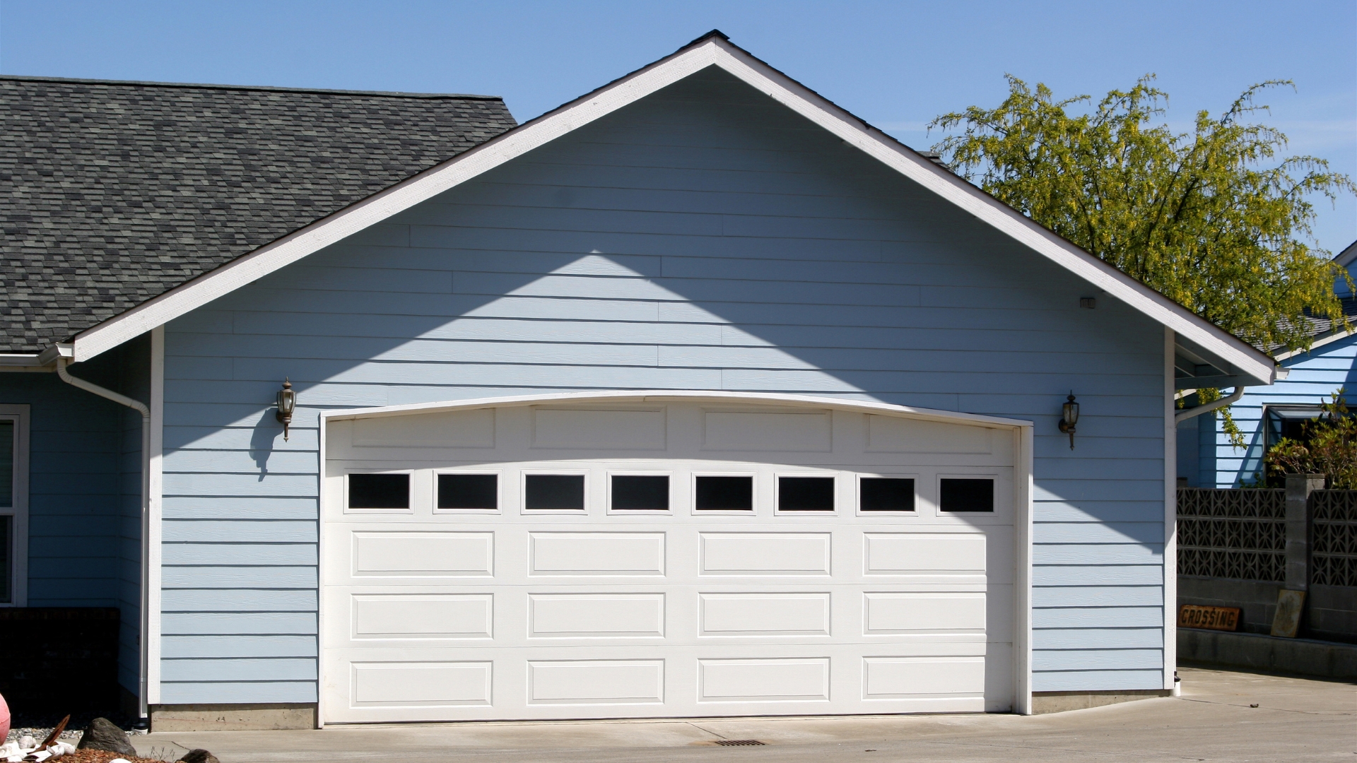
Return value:
<svg viewBox="0 0 1357 763">
<path fill-rule="evenodd" d="M 0 607 L 27 599 L 27 448 L 28 406 L 0 405 Z"/>
</svg>

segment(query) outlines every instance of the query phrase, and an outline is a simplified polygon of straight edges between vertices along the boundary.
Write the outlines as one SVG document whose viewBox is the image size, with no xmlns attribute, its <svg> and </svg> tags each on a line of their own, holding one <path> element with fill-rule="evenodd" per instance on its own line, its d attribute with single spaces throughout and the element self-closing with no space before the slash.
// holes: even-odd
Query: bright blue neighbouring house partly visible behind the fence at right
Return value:
<svg viewBox="0 0 1357 763">
<path fill-rule="evenodd" d="M 1354 273 L 1357 243 L 1334 262 Z M 1334 292 L 1343 314 L 1357 322 L 1357 296 L 1346 278 L 1335 278 Z M 1239 487 L 1255 482 L 1263 471 L 1263 453 L 1281 437 L 1297 437 L 1301 424 L 1319 415 L 1319 403 L 1345 390 L 1349 407 L 1357 407 L 1357 334 L 1316 320 L 1314 345 L 1307 352 L 1278 352 L 1284 369 L 1270 387 L 1250 387 L 1231 415 L 1244 434 L 1246 448 L 1236 448 L 1221 429 L 1215 413 L 1189 418 L 1178 425 L 1178 478 L 1191 487 Z"/>
</svg>

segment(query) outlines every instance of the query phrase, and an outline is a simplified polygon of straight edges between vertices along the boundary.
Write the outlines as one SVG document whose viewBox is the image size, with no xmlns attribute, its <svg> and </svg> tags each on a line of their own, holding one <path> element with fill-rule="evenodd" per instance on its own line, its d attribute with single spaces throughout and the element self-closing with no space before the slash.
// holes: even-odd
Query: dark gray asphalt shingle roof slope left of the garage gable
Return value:
<svg viewBox="0 0 1357 763">
<path fill-rule="evenodd" d="M 510 129 L 499 98 L 0 76 L 0 353 L 35 353 Z"/>
</svg>

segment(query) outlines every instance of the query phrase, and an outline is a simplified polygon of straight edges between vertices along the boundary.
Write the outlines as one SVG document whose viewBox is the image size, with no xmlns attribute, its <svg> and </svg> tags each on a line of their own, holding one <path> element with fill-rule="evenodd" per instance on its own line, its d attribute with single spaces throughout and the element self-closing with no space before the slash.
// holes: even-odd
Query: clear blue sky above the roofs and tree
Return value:
<svg viewBox="0 0 1357 763">
<path fill-rule="evenodd" d="M 1267 122 L 1357 176 L 1353 0 L 0 0 L 0 72 L 493 94 L 524 121 L 714 27 L 916 148 L 932 117 L 996 105 L 1006 72 L 1057 95 L 1155 72 L 1182 126 L 1292 79 Z M 1357 200 L 1320 201 L 1316 235 L 1335 253 L 1357 239 Z"/>
</svg>

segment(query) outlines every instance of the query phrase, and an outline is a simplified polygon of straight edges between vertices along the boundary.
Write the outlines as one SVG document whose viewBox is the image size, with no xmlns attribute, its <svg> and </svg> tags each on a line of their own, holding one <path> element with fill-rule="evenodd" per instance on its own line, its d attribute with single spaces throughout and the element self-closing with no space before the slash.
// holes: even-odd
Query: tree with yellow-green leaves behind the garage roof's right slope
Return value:
<svg viewBox="0 0 1357 763">
<path fill-rule="evenodd" d="M 934 149 L 1033 221 L 1255 346 L 1308 348 L 1311 316 L 1349 327 L 1334 295 L 1346 272 L 1305 242 L 1308 198 L 1357 186 L 1323 159 L 1278 157 L 1286 136 L 1248 121 L 1267 109 L 1259 92 L 1291 83 L 1255 84 L 1220 117 L 1198 111 L 1190 132 L 1155 124 L 1168 94 L 1152 83 L 1094 105 L 1008 76 L 997 107 L 934 119 L 930 129 L 957 132 Z"/>
</svg>

